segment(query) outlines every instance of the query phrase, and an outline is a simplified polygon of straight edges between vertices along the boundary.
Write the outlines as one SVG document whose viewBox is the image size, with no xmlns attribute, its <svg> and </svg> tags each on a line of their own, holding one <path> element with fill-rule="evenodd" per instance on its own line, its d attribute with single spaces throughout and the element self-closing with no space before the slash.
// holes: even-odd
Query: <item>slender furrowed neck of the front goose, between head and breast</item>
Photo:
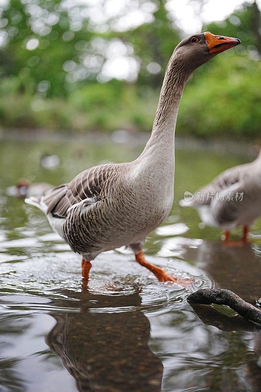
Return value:
<svg viewBox="0 0 261 392">
<path fill-rule="evenodd" d="M 174 161 L 174 135 L 178 115 L 178 108 L 182 91 L 191 71 L 184 63 L 175 57 L 175 53 L 167 65 L 158 108 L 151 132 L 151 137 L 146 144 L 140 158 L 154 159 L 155 154 L 172 156 Z"/>
</svg>

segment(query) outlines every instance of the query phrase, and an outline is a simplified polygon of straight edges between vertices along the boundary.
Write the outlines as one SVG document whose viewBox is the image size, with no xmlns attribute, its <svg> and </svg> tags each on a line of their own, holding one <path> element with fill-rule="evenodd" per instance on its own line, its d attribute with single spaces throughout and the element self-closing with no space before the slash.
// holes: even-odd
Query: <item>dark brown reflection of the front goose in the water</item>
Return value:
<svg viewBox="0 0 261 392">
<path fill-rule="evenodd" d="M 52 314 L 56 325 L 47 335 L 47 344 L 75 378 L 78 391 L 160 392 L 163 366 L 148 347 L 148 319 L 141 311 L 95 312 L 97 301 L 99 308 L 101 303 L 139 307 L 139 291 L 97 296 L 82 287 L 81 293 L 65 290 L 63 294 L 78 299 L 81 312 Z"/>
</svg>

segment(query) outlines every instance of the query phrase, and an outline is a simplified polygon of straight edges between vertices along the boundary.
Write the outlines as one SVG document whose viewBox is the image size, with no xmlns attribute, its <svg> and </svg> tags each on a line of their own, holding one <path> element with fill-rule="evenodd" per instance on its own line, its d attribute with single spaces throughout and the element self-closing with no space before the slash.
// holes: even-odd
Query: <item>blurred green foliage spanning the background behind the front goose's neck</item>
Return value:
<svg viewBox="0 0 261 392">
<path fill-rule="evenodd" d="M 0 125 L 150 130 L 166 64 L 181 40 L 166 1 L 150 2 L 154 4 L 150 22 L 129 31 L 108 27 L 97 32 L 87 18 L 80 18 L 87 4 L 71 4 L 73 26 L 72 13 L 59 0 L 10 0 L 0 12 L 0 34 L 7 34 L 6 45 L 0 47 Z M 236 36 L 242 45 L 195 72 L 184 90 L 179 134 L 259 137 L 261 80 L 260 62 L 255 61 L 261 53 L 259 23 L 256 4 L 247 3 L 222 23 L 205 27 Z M 109 58 L 108 45 L 115 39 L 129 48 L 132 59 L 138 59 L 138 80 L 100 77 Z M 97 41 L 101 49 L 95 47 Z M 97 64 L 89 63 L 88 56 Z"/>
</svg>

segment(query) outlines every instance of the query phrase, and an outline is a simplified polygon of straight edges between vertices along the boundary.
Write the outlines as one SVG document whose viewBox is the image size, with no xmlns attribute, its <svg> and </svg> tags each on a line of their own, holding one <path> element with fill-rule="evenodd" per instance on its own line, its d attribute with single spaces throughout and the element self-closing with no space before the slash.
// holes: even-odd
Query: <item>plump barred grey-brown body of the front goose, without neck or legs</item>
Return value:
<svg viewBox="0 0 261 392">
<path fill-rule="evenodd" d="M 173 203 L 174 168 L 166 170 L 162 165 L 161 175 L 171 178 L 157 189 L 153 176 L 143 174 L 144 164 L 138 159 L 95 166 L 47 192 L 40 202 L 33 197 L 26 202 L 37 205 L 51 227 L 85 260 L 122 245 L 140 250 Z"/>
</svg>

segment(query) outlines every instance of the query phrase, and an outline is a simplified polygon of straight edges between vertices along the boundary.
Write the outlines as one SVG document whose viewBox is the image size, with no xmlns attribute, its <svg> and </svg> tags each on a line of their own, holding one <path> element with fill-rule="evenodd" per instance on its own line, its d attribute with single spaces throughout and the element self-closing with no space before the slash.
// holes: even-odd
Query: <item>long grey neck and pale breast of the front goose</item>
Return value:
<svg viewBox="0 0 261 392">
<path fill-rule="evenodd" d="M 174 133 L 183 87 L 190 69 L 178 61 L 175 53 L 169 60 L 151 137 L 142 154 L 134 161 L 136 186 L 149 194 L 166 213 L 173 202 Z"/>
</svg>

